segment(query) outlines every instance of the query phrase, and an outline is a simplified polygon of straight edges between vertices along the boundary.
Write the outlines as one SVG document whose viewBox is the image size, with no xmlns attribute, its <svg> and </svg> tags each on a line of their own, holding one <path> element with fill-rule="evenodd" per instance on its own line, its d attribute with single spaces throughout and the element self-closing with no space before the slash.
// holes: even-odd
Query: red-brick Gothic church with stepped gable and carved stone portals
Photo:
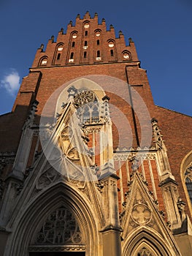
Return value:
<svg viewBox="0 0 192 256">
<path fill-rule="evenodd" d="M 0 121 L 1 256 L 191 255 L 192 118 L 97 13 L 37 49 Z"/>
</svg>

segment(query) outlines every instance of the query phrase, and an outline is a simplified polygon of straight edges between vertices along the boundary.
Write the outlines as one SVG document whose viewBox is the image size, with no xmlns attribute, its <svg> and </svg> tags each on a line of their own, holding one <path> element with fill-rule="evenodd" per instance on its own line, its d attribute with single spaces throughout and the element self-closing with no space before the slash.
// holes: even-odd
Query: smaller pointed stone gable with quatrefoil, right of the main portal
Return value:
<svg viewBox="0 0 192 256">
<path fill-rule="evenodd" d="M 126 193 L 126 201 L 123 204 L 124 211 L 121 214 L 121 225 L 123 228 L 124 250 L 127 250 L 127 246 L 136 246 L 136 244 L 134 245 L 134 237 L 141 236 L 141 234 L 141 238 L 149 236 L 147 239 L 150 239 L 150 236 L 155 236 L 159 242 L 161 241 L 160 244 L 165 244 L 166 253 L 174 247 L 174 238 L 169 227 L 166 226 L 164 218 L 158 211 L 157 202 L 154 201 L 153 195 L 150 195 L 146 181 L 143 180 L 142 175 L 137 171 L 133 173 L 129 190 Z M 128 241 L 129 244 L 127 244 Z M 158 245 L 156 246 L 158 247 Z M 141 252 L 145 251 L 145 249 L 146 246 L 140 248 Z M 150 255 L 153 250 L 146 249 L 146 252 Z M 137 253 L 140 253 L 139 249 Z M 175 255 L 175 253 L 177 255 L 176 247 L 174 247 L 172 255 Z M 168 255 L 171 255 L 170 252 Z"/>
</svg>

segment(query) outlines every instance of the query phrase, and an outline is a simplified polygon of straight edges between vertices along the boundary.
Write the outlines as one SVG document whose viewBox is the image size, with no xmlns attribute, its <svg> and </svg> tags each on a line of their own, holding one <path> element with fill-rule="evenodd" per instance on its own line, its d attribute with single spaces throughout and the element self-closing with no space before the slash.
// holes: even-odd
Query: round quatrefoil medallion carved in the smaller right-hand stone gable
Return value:
<svg viewBox="0 0 192 256">
<path fill-rule="evenodd" d="M 142 203 L 134 206 L 131 217 L 139 225 L 147 225 L 152 218 L 152 213 L 150 209 Z"/>
</svg>

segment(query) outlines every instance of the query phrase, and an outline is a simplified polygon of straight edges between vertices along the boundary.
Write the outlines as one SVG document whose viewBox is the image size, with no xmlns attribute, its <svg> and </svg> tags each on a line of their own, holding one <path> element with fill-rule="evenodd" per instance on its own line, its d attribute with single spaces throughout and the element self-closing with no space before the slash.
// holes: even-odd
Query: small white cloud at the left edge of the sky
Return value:
<svg viewBox="0 0 192 256">
<path fill-rule="evenodd" d="M 15 92 L 18 91 L 20 86 L 20 76 L 15 69 L 12 69 L 9 74 L 4 76 L 4 79 L 1 80 L 1 87 L 6 89 L 6 91 L 12 96 L 15 95 Z"/>
</svg>

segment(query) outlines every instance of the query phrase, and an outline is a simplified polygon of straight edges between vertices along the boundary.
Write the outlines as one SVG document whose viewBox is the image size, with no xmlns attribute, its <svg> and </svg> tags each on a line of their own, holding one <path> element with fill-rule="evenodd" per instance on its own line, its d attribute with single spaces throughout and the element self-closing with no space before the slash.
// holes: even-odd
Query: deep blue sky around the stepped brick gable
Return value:
<svg viewBox="0 0 192 256">
<path fill-rule="evenodd" d="M 191 0 L 0 0 L 0 114 L 10 112 L 37 48 L 86 11 L 132 37 L 156 105 L 192 116 Z"/>
</svg>

